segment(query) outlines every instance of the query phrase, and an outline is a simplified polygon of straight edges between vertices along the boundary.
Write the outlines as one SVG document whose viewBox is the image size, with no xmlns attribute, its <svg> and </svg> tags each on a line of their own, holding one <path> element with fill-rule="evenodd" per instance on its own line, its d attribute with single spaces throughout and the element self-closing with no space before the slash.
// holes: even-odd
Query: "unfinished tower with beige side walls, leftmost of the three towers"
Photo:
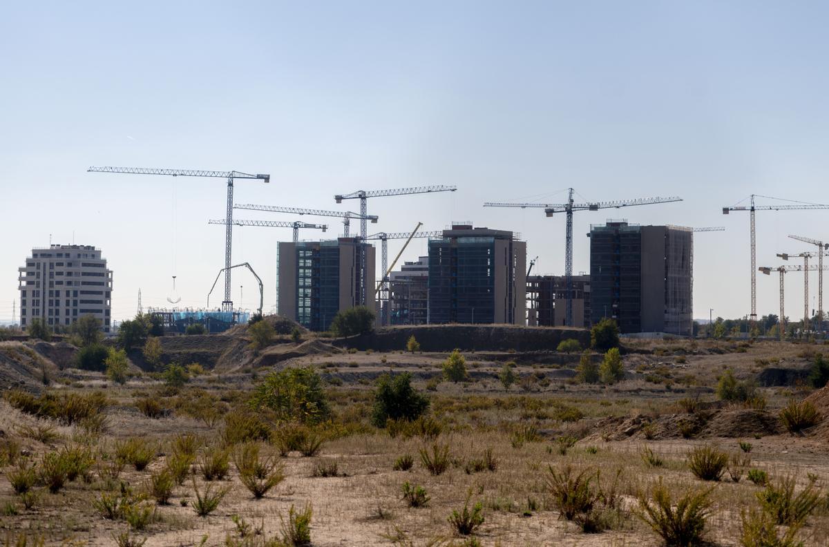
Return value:
<svg viewBox="0 0 829 547">
<path fill-rule="evenodd" d="M 357 238 L 279 243 L 278 312 L 312 331 L 327 331 L 337 312 L 360 304 L 374 309 L 374 247 Z M 360 249 L 366 273 L 360 275 Z"/>
</svg>

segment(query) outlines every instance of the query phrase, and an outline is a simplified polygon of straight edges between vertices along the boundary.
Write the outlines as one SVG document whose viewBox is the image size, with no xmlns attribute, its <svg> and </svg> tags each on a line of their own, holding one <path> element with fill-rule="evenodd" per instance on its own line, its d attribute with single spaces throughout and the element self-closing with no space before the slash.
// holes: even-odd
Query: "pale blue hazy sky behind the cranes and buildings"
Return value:
<svg viewBox="0 0 829 547">
<path fill-rule="evenodd" d="M 484 201 L 681 196 L 574 215 L 589 225 L 725 226 L 695 236 L 694 316 L 749 313 L 750 194 L 829 203 L 826 2 L 4 2 L 0 17 L 0 322 L 32 247 L 91 244 L 114 271 L 113 315 L 203 307 L 224 265 L 225 181 L 90 166 L 269 173 L 235 201 L 358 210 L 335 193 L 456 185 L 376 198 L 370 231 L 453 221 L 521 233 L 537 273 L 563 273 L 564 215 Z M 758 198 L 758 203 L 779 203 Z M 829 240 L 829 211 L 760 211 L 758 265 Z M 250 220 L 336 218 L 236 211 Z M 352 225 L 352 230 L 356 225 Z M 318 238 L 304 230 L 303 239 Z M 234 263 L 276 301 L 287 228 L 234 230 Z M 402 241 L 391 241 L 390 257 Z M 413 240 L 403 259 L 426 254 Z M 795 263 L 797 264 L 797 263 Z M 802 274 L 786 282 L 802 315 Z M 812 287 L 817 285 L 813 274 Z M 233 298 L 258 306 L 250 273 Z M 221 282 L 211 303 L 221 300 Z M 778 279 L 758 274 L 758 313 Z M 817 307 L 812 289 L 810 301 Z M 19 310 L 18 310 L 19 314 Z M 18 315 L 19 317 L 19 315 Z"/>
</svg>

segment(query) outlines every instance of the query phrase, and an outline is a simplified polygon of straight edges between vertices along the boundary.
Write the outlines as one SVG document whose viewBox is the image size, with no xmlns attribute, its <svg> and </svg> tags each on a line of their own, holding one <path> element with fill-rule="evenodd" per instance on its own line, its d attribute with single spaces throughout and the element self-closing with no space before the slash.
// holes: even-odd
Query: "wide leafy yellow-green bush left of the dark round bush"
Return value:
<svg viewBox="0 0 829 547">
<path fill-rule="evenodd" d="M 331 414 L 322 379 L 311 366 L 274 371 L 265 376 L 250 398 L 250 407 L 270 409 L 279 421 L 310 424 L 321 422 Z"/>
</svg>

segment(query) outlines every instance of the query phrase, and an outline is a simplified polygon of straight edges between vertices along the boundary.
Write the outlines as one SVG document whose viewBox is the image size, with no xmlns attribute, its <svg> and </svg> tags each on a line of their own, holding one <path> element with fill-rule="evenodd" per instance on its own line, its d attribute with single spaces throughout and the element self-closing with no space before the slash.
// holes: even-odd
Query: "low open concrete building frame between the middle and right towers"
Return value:
<svg viewBox="0 0 829 547">
<path fill-rule="evenodd" d="M 527 324 L 530 327 L 564 327 L 567 323 L 567 278 L 531 275 L 526 278 Z M 590 276 L 573 276 L 573 327 L 590 327 Z"/>
</svg>

